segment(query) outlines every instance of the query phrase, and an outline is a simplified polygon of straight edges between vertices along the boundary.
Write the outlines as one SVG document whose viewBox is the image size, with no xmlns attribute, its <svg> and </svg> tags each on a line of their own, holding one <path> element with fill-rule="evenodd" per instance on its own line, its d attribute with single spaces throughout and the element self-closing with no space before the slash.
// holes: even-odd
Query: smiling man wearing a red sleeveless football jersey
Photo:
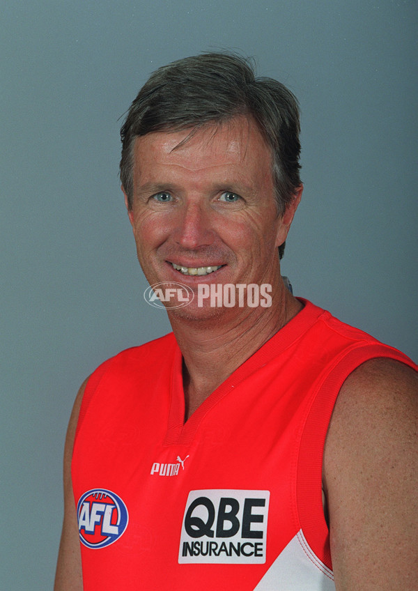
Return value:
<svg viewBox="0 0 418 591">
<path fill-rule="evenodd" d="M 56 590 L 416 588 L 417 377 L 284 285 L 298 134 L 293 95 L 229 54 L 132 103 L 122 187 L 173 333 L 82 385 Z"/>
</svg>

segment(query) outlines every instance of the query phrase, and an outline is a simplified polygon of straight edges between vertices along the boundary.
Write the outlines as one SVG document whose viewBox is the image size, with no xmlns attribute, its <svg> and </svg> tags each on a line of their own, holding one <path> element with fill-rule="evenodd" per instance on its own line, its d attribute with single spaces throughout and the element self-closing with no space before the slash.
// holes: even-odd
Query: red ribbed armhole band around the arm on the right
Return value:
<svg viewBox="0 0 418 591">
<path fill-rule="evenodd" d="M 332 410 L 341 386 L 362 363 L 390 358 L 411 367 L 414 363 L 396 349 L 383 344 L 356 346 L 344 355 L 323 381 L 311 404 L 300 439 L 297 460 L 296 506 L 300 528 L 311 550 L 332 569 L 330 536 L 322 503 L 323 452 Z"/>
</svg>

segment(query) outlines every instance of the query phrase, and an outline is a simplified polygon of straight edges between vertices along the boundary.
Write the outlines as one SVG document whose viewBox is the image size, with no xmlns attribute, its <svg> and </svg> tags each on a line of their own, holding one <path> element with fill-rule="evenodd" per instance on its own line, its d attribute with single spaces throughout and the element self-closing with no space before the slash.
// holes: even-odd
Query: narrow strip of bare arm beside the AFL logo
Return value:
<svg viewBox="0 0 418 591">
<path fill-rule="evenodd" d="M 68 423 L 67 436 L 64 447 L 64 520 L 59 545 L 58 562 L 54 591 L 82 591 L 82 557 L 80 553 L 79 530 L 75 500 L 72 493 L 71 460 L 72 447 L 74 446 L 75 431 L 79 417 L 80 407 L 88 378 L 80 387 Z"/>
</svg>

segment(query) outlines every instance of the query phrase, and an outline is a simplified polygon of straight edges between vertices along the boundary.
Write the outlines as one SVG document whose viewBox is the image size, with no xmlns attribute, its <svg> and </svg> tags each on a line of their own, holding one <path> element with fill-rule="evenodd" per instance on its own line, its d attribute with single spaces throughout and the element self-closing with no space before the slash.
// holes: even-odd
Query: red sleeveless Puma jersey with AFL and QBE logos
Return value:
<svg viewBox="0 0 418 591">
<path fill-rule="evenodd" d="M 72 457 L 84 590 L 334 590 L 325 436 L 343 381 L 378 357 L 413 367 L 304 301 L 185 424 L 172 334 L 102 364 Z"/>
</svg>

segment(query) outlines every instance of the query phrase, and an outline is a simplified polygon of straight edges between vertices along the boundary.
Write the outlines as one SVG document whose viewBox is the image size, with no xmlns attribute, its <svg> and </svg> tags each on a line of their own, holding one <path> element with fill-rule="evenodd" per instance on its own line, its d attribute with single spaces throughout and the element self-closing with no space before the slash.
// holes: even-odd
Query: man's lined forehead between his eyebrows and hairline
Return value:
<svg viewBox="0 0 418 591">
<path fill-rule="evenodd" d="M 271 151 L 256 123 L 241 116 L 208 123 L 198 130 L 152 132 L 134 145 L 134 176 L 160 167 L 180 167 L 195 174 L 209 169 L 240 174 L 271 171 Z M 270 173 L 271 174 L 271 173 Z"/>
</svg>

